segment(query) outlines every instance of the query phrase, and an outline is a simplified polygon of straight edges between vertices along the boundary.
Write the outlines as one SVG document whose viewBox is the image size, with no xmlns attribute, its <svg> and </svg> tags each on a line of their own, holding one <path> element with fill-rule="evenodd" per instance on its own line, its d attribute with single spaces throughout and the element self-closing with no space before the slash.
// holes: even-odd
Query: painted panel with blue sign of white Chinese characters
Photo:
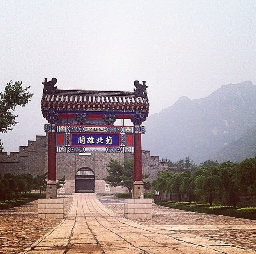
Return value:
<svg viewBox="0 0 256 254">
<path fill-rule="evenodd" d="M 57 125 L 56 152 L 133 153 L 134 132 L 138 131 L 145 133 L 145 127 Z"/>
</svg>

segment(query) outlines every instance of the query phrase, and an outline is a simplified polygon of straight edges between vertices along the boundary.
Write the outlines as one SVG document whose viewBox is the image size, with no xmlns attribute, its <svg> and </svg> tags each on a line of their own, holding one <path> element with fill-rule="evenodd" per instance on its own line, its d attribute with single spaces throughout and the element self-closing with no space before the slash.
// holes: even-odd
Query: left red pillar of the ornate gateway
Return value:
<svg viewBox="0 0 256 254">
<path fill-rule="evenodd" d="M 48 180 L 56 181 L 56 132 L 55 126 L 48 132 Z"/>
</svg>

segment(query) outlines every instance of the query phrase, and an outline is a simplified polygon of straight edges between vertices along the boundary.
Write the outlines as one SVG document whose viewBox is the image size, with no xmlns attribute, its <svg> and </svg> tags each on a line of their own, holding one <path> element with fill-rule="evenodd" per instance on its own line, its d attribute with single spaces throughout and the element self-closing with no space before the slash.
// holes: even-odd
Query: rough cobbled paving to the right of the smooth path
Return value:
<svg viewBox="0 0 256 254">
<path fill-rule="evenodd" d="M 99 197 L 99 199 L 116 200 L 115 197 Z M 104 205 L 118 215 L 124 216 L 123 204 L 109 203 Z M 222 215 L 193 213 L 154 205 L 154 203 L 152 213 L 152 220 L 132 219 L 132 221 L 157 228 L 178 230 L 178 232 L 184 234 L 195 234 L 211 240 L 221 240 L 256 251 L 256 221 Z"/>
</svg>

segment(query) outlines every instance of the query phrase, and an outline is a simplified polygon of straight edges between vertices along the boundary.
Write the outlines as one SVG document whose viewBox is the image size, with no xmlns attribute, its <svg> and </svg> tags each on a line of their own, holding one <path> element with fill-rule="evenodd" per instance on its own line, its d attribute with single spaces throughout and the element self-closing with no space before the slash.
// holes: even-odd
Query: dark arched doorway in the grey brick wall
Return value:
<svg viewBox="0 0 256 254">
<path fill-rule="evenodd" d="M 82 167 L 76 172 L 75 192 L 94 193 L 95 176 L 89 167 Z"/>
</svg>

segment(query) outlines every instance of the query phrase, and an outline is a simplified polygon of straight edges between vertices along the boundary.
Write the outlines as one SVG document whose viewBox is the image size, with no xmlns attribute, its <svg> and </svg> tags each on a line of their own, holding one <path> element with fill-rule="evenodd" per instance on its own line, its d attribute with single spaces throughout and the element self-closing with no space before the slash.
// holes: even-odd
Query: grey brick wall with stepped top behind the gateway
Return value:
<svg viewBox="0 0 256 254">
<path fill-rule="evenodd" d="M 0 152 L 0 174 L 14 175 L 30 173 L 33 176 L 47 172 L 48 136 L 36 136 L 36 140 L 29 140 L 27 146 L 20 146 L 19 152 Z M 103 178 L 108 175 L 107 164 L 110 159 L 123 163 L 124 159 L 133 159 L 133 154 L 106 153 L 57 153 L 57 179 L 65 175 L 65 192 L 74 192 L 76 172 L 88 167 L 95 175 L 95 191 L 105 191 Z M 150 156 L 150 151 L 142 151 L 142 173 L 150 174 L 147 181 L 155 179 L 162 170 L 167 170 L 166 163 L 159 162 L 158 156 Z M 110 192 L 123 192 L 124 189 L 110 187 Z"/>
</svg>

